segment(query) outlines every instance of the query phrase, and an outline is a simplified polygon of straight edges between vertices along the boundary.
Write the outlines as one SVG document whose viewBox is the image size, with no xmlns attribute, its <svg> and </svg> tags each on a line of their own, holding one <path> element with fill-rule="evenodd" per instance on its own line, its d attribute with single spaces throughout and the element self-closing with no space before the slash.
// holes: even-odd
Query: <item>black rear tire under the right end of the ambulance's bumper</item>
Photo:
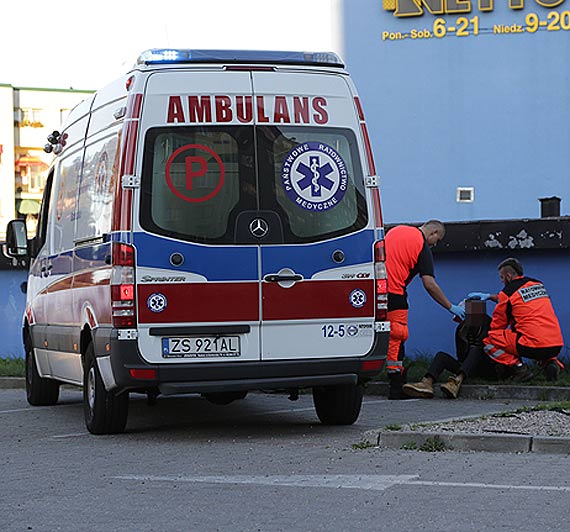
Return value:
<svg viewBox="0 0 570 532">
<path fill-rule="evenodd" d="M 352 425 L 362 407 L 362 386 L 339 384 L 315 387 L 313 403 L 323 425 Z"/>
</svg>

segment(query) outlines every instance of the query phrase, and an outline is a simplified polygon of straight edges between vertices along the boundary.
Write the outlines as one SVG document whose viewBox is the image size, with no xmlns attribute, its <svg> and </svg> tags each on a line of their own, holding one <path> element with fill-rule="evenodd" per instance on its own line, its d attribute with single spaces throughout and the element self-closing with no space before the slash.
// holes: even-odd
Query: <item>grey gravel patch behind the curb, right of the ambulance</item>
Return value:
<svg viewBox="0 0 570 532">
<path fill-rule="evenodd" d="M 570 437 L 570 410 L 535 410 L 493 414 L 478 419 L 444 423 L 411 424 L 401 428 L 413 432 L 465 434 L 523 434 L 528 436 Z"/>
</svg>

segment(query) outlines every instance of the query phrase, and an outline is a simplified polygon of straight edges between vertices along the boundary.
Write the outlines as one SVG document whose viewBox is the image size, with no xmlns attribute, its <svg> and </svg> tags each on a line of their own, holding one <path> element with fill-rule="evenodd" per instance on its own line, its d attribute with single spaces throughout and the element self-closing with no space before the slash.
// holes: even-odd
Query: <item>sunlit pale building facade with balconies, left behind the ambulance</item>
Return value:
<svg viewBox="0 0 570 532">
<path fill-rule="evenodd" d="M 16 216 L 33 234 L 52 159 L 43 151 L 47 135 L 91 92 L 0 84 L 0 239 Z"/>
</svg>

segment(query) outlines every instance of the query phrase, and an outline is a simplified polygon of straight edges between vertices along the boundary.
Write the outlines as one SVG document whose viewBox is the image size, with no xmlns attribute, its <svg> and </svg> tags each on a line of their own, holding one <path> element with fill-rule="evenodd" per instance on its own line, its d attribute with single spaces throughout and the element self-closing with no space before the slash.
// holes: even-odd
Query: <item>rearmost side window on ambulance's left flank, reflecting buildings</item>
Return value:
<svg viewBox="0 0 570 532">
<path fill-rule="evenodd" d="M 113 195 L 119 173 L 118 134 L 85 149 L 79 185 L 76 239 L 111 231 Z"/>
</svg>

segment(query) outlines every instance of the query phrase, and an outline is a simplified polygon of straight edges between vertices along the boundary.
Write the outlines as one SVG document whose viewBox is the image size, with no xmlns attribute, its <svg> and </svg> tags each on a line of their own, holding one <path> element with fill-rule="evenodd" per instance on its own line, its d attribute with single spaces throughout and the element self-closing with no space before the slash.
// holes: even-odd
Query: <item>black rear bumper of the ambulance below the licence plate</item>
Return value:
<svg viewBox="0 0 570 532">
<path fill-rule="evenodd" d="M 97 345 L 96 353 L 109 357 L 114 387 L 158 389 L 164 395 L 362 383 L 380 373 L 389 339 L 389 332 L 375 333 L 374 345 L 363 357 L 148 364 L 140 355 L 136 340 L 118 340 L 116 330 L 109 333 L 106 342 L 98 335 L 96 344 L 103 347 L 103 343 L 109 342 L 111 356 L 108 351 L 97 349 Z M 149 369 L 156 371 L 156 378 L 136 379 L 131 375 L 131 370 Z"/>
</svg>

